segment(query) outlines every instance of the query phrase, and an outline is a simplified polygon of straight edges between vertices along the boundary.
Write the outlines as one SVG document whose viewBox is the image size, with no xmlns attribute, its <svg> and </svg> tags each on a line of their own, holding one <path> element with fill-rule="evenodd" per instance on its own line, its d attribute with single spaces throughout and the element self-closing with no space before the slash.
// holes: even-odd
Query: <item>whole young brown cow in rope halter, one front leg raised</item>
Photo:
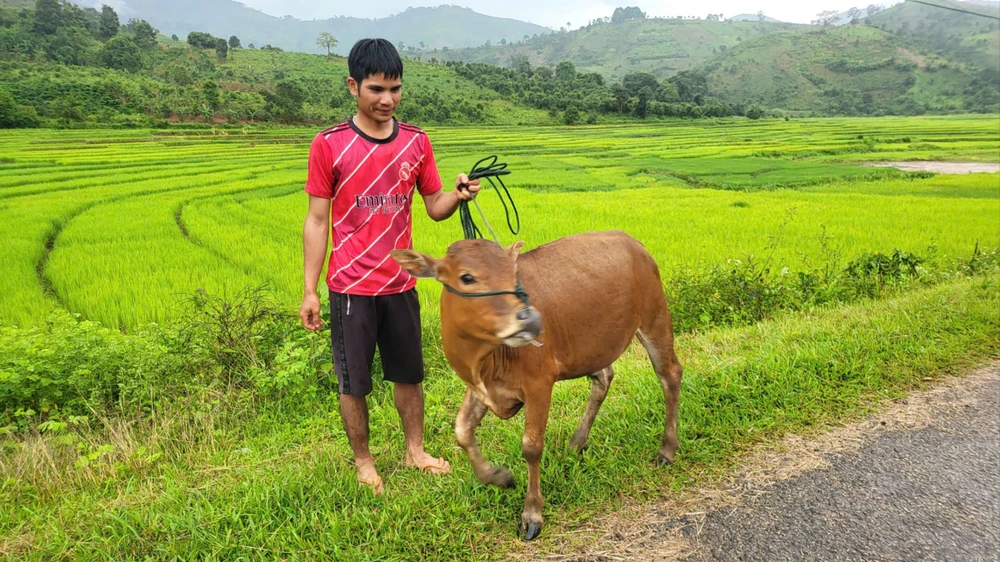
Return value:
<svg viewBox="0 0 1000 562">
<path fill-rule="evenodd" d="M 671 463 L 681 365 L 659 269 L 637 240 L 623 232 L 578 234 L 518 258 L 522 245 L 504 250 L 486 240 L 462 240 L 440 260 L 409 250 L 392 256 L 411 275 L 435 278 L 448 289 L 441 294 L 441 341 L 467 385 L 455 434 L 480 481 L 514 484 L 510 471 L 487 462 L 476 442 L 487 409 L 508 419 L 525 407 L 521 450 L 528 491 L 520 529 L 531 540 L 542 528 L 539 465 L 552 386 L 590 377 L 590 400 L 570 441 L 582 450 L 611 385 L 611 364 L 638 335 L 666 402 L 657 461 Z M 542 345 L 529 345 L 536 338 Z"/>
</svg>

